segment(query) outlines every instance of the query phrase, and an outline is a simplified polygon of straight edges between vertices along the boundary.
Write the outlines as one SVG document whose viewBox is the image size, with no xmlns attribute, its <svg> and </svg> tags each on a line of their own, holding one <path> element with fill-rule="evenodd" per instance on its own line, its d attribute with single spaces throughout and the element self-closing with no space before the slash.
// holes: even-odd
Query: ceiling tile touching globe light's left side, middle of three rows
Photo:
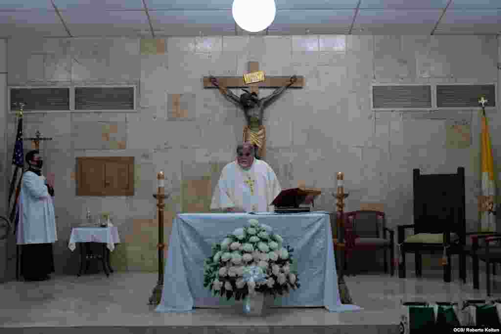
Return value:
<svg viewBox="0 0 501 334">
<path fill-rule="evenodd" d="M 183 24 L 206 26 L 235 25 L 231 11 L 148 11 L 155 25 Z"/>
</svg>

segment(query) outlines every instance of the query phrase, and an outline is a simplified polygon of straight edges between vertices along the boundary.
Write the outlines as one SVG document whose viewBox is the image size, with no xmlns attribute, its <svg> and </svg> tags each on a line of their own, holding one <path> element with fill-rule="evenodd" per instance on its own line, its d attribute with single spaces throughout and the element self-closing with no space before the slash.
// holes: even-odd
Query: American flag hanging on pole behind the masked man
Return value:
<svg viewBox="0 0 501 334">
<path fill-rule="evenodd" d="M 23 149 L 23 118 L 20 117 L 18 121 L 18 132 L 16 134 L 16 144 L 14 146 L 14 153 L 12 155 L 12 164 L 16 166 L 11 179 L 11 187 L 9 189 L 9 207 L 8 216 L 11 221 L 17 217 L 16 209 L 19 198 L 19 191 L 21 190 L 21 176 L 23 175 L 25 154 Z M 16 187 L 16 184 L 18 185 Z M 17 222 L 14 222 L 17 226 Z"/>
</svg>

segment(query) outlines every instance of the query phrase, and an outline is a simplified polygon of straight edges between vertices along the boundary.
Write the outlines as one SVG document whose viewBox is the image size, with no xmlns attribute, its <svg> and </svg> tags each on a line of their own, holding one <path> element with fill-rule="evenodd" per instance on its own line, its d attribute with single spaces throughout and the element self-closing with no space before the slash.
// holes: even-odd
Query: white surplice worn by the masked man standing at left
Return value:
<svg viewBox="0 0 501 334">
<path fill-rule="evenodd" d="M 52 197 L 44 178 L 30 171 L 23 174 L 18 224 L 18 245 L 58 240 Z"/>
</svg>

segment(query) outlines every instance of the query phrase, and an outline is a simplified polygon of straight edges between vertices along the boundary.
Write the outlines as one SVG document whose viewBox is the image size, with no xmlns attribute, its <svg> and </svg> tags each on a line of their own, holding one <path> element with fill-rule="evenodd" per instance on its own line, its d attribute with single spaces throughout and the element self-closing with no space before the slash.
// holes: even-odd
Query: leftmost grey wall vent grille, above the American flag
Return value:
<svg viewBox="0 0 501 334">
<path fill-rule="evenodd" d="M 19 110 L 20 102 L 25 111 L 70 110 L 70 89 L 11 88 L 11 111 Z"/>
</svg>

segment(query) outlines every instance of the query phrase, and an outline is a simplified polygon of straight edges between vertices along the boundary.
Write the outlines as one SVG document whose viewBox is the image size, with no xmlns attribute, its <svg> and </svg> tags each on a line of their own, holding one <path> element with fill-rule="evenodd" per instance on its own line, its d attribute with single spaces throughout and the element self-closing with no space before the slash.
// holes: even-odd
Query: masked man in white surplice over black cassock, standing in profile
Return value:
<svg viewBox="0 0 501 334">
<path fill-rule="evenodd" d="M 25 280 L 40 281 L 54 272 L 52 244 L 58 240 L 54 215 L 54 188 L 42 175 L 38 150 L 26 155 L 30 168 L 23 174 L 19 194 L 17 244 L 22 245 L 21 273 Z"/>
</svg>

